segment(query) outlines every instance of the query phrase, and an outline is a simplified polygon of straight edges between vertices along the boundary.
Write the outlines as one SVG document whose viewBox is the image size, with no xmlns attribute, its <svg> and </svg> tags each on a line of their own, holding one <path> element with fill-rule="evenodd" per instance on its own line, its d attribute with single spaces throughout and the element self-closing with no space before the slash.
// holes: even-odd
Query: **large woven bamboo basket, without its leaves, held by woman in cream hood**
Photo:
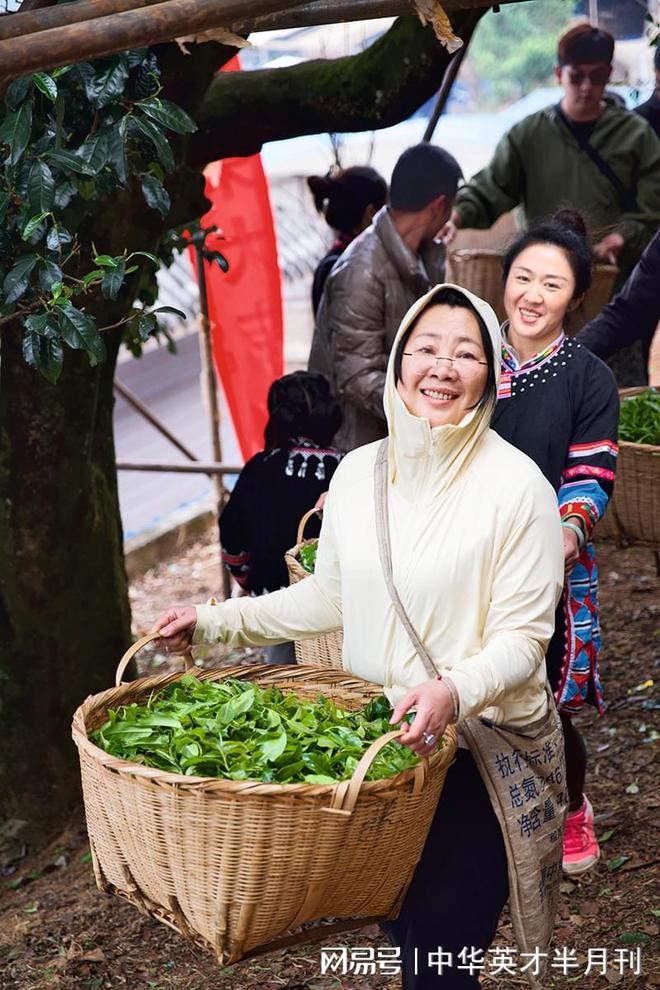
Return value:
<svg viewBox="0 0 660 990">
<path fill-rule="evenodd" d="M 417 767 L 365 781 L 376 740 L 350 781 L 273 784 L 165 773 L 116 759 L 89 733 L 109 708 L 146 701 L 182 674 L 121 684 L 78 708 L 78 747 L 92 862 L 101 890 L 211 949 L 229 964 L 396 917 L 456 751 L 455 730 Z M 272 665 L 198 671 L 359 708 L 381 689 L 340 672 Z M 300 926 L 304 926 L 300 929 Z"/>
</svg>

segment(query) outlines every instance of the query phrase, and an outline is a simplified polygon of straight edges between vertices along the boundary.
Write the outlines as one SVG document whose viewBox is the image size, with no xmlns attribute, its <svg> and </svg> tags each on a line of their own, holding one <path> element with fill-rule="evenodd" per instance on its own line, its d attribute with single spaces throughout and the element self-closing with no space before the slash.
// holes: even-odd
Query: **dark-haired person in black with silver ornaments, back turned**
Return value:
<svg viewBox="0 0 660 990">
<path fill-rule="evenodd" d="M 219 519 L 223 564 L 253 596 L 288 585 L 284 554 L 341 458 L 331 446 L 341 410 L 323 375 L 294 371 L 278 378 L 268 412 L 264 450 L 241 471 Z M 269 663 L 295 663 L 293 643 L 266 654 Z"/>
</svg>

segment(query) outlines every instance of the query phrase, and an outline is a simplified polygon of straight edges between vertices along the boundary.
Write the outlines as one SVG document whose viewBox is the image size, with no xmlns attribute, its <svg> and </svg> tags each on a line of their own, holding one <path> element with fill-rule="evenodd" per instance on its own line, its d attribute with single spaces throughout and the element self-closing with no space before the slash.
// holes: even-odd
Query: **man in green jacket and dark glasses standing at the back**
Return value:
<svg viewBox="0 0 660 990">
<path fill-rule="evenodd" d="M 623 282 L 660 225 L 660 140 L 638 114 L 603 94 L 614 39 L 579 24 L 558 45 L 564 96 L 504 135 L 490 165 L 459 190 L 445 242 L 455 227 L 490 227 L 522 206 L 535 223 L 562 206 L 585 217 L 594 255 L 618 264 Z"/>
</svg>

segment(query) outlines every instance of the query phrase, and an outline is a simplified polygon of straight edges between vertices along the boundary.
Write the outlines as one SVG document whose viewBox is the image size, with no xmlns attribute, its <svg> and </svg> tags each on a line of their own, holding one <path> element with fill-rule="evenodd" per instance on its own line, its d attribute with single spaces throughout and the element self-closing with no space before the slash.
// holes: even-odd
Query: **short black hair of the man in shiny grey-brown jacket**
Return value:
<svg viewBox="0 0 660 990">
<path fill-rule="evenodd" d="M 392 172 L 390 204 L 414 213 L 438 196 L 453 199 L 463 178 L 453 155 L 435 144 L 415 144 L 403 152 Z"/>
</svg>

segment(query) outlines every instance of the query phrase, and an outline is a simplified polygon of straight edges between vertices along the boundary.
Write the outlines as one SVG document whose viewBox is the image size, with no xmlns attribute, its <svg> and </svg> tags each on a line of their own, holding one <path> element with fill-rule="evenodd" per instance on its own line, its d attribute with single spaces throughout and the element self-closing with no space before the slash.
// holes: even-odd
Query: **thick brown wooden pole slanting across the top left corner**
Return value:
<svg viewBox="0 0 660 990">
<path fill-rule="evenodd" d="M 68 62 L 101 58 L 172 41 L 181 35 L 231 26 L 239 17 L 259 17 L 283 10 L 289 3 L 290 0 L 164 0 L 142 10 L 37 31 L 26 35 L 20 45 L 13 39 L 0 41 L 0 78 L 13 79 Z"/>
</svg>

